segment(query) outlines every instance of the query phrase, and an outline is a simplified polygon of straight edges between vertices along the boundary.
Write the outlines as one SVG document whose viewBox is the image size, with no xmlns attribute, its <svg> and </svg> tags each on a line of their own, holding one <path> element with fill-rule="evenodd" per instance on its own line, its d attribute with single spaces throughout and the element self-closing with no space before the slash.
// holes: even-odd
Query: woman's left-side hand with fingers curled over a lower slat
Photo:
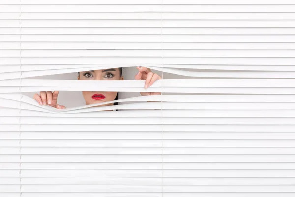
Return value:
<svg viewBox="0 0 295 197">
<path fill-rule="evenodd" d="M 49 105 L 51 107 L 57 108 L 57 109 L 65 109 L 65 106 L 57 104 L 58 101 L 58 94 L 59 91 L 41 91 L 40 96 L 36 93 L 34 95 L 34 99 L 40 104 L 40 105 Z"/>
</svg>

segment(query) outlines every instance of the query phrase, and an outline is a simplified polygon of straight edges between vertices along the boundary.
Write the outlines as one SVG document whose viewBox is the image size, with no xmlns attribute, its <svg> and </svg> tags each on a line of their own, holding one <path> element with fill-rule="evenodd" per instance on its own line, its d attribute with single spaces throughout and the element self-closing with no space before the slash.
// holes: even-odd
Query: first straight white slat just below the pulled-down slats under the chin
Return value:
<svg viewBox="0 0 295 197">
<path fill-rule="evenodd" d="M 55 114 L 15 108 L 0 109 L 0 116 L 6 117 L 295 117 L 295 110 L 137 110 L 116 113 L 91 112 L 74 114 Z M 144 112 L 144 113 L 142 113 Z M 185 113 L 184 113 L 185 112 Z"/>
</svg>

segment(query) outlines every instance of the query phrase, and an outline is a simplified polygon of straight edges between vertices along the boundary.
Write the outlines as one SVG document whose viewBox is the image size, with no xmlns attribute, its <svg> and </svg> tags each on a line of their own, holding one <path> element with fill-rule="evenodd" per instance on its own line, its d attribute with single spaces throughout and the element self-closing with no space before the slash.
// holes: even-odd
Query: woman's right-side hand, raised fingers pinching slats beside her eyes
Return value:
<svg viewBox="0 0 295 197">
<path fill-rule="evenodd" d="M 149 68 L 146 67 L 136 67 L 138 69 L 138 73 L 135 75 L 136 80 L 146 80 L 145 82 L 145 88 L 147 89 L 149 86 L 151 86 L 156 80 L 162 79 L 158 74 L 153 73 L 150 71 Z M 160 95 L 160 92 L 140 92 L 142 96 L 147 95 Z"/>
</svg>

